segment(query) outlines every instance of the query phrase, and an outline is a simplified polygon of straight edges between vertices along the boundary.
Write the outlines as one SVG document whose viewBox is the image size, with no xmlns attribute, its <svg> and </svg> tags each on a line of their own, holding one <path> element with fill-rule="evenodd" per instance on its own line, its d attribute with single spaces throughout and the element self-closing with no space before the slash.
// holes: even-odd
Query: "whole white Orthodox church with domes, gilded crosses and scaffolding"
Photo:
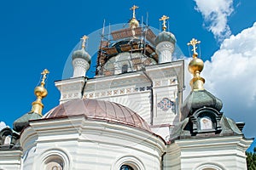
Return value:
<svg viewBox="0 0 256 170">
<path fill-rule="evenodd" d="M 204 63 L 193 38 L 189 63 L 191 92 L 183 96 L 183 59 L 172 56 L 175 36 L 155 35 L 136 19 L 102 39 L 96 75 L 85 77 L 90 54 L 73 52 L 73 77 L 56 81 L 60 105 L 44 115 L 48 70 L 34 89 L 32 110 L 13 128 L 0 129 L 2 170 L 228 170 L 247 169 L 245 151 L 252 143 L 244 123 L 221 112 L 223 103 L 204 88 Z M 184 98 L 184 100 L 183 100 Z"/>
</svg>

